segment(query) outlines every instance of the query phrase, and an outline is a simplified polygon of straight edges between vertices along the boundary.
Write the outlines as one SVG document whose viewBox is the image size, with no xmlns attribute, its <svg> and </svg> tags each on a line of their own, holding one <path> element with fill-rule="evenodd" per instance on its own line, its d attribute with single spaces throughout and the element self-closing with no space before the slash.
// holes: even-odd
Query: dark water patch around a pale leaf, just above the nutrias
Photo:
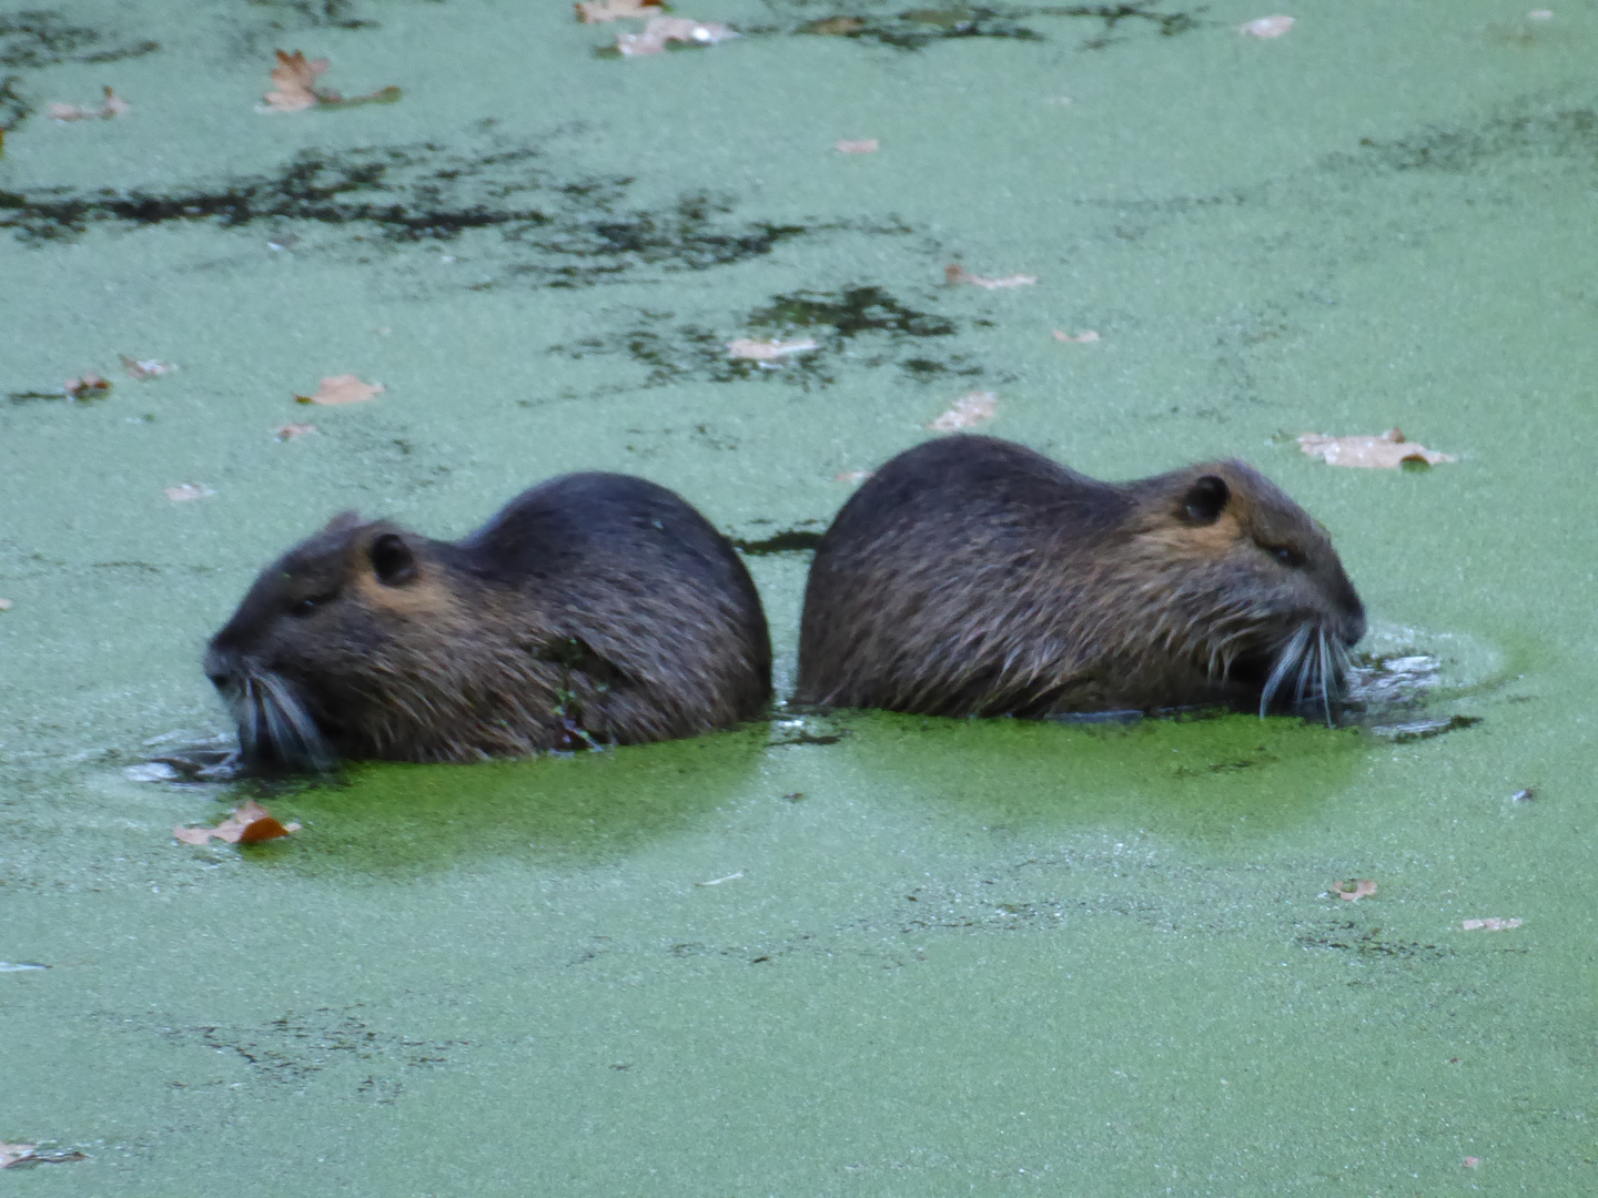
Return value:
<svg viewBox="0 0 1598 1198">
<path fill-rule="evenodd" d="M 642 310 L 625 332 L 551 345 L 550 353 L 567 358 L 626 353 L 634 363 L 649 367 L 644 387 L 665 387 L 689 379 L 714 383 L 777 379 L 809 391 L 837 382 L 834 371 L 845 355 L 861 366 L 877 367 L 893 363 L 895 347 L 908 339 L 952 337 L 959 332 L 952 319 L 908 307 L 877 286 L 796 291 L 749 311 L 741 321 L 743 334 L 756 339 L 809 337 L 817 342 L 815 350 L 785 355 L 773 363 L 729 358 L 727 343 L 741 334 L 718 332 L 703 324 L 673 326 L 673 318 L 674 313 L 670 311 Z M 861 351 L 857 337 L 866 337 L 866 347 L 874 342 L 876 350 Z M 898 361 L 898 366 L 920 382 L 949 374 L 983 372 L 981 366 L 972 364 L 964 355 L 943 359 L 917 355 Z"/>
</svg>

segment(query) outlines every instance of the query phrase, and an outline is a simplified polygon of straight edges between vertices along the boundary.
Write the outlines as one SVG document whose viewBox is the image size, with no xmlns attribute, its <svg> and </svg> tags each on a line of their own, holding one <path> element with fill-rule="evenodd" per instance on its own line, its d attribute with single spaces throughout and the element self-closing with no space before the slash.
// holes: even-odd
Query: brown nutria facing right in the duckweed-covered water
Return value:
<svg viewBox="0 0 1598 1198">
<path fill-rule="evenodd" d="M 900 454 L 817 546 L 802 703 L 1055 716 L 1314 703 L 1365 609 L 1326 532 L 1259 471 L 1098 482 L 1008 441 Z"/>
</svg>

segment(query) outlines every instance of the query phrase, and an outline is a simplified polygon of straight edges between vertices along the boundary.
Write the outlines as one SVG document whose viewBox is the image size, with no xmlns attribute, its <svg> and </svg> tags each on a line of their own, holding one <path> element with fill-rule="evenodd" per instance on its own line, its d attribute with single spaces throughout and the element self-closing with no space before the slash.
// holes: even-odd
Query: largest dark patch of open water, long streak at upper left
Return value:
<svg viewBox="0 0 1598 1198">
<path fill-rule="evenodd" d="M 559 179 L 539 149 L 510 147 L 476 157 L 435 144 L 305 150 L 272 174 L 193 184 L 168 192 L 0 192 L 0 228 L 29 243 L 81 236 L 93 225 L 165 224 L 320 225 L 352 230 L 352 241 L 398 246 L 499 233 L 511 262 L 503 278 L 580 286 L 638 267 L 706 270 L 770 254 L 817 232 L 909 232 L 904 225 L 735 220 L 733 201 L 690 193 L 657 209 L 625 208 L 633 179 Z M 491 289 L 500 280 L 471 284 Z"/>
</svg>

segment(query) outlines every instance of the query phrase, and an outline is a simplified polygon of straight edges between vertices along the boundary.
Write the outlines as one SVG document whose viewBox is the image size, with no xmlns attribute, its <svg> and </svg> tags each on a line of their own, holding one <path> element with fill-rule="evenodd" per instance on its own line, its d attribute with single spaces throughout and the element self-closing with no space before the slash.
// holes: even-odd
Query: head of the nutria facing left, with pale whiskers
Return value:
<svg viewBox="0 0 1598 1198">
<path fill-rule="evenodd" d="M 443 549 L 345 513 L 260 572 L 205 657 L 246 759 L 326 768 L 428 706 L 460 623 Z"/>
</svg>

